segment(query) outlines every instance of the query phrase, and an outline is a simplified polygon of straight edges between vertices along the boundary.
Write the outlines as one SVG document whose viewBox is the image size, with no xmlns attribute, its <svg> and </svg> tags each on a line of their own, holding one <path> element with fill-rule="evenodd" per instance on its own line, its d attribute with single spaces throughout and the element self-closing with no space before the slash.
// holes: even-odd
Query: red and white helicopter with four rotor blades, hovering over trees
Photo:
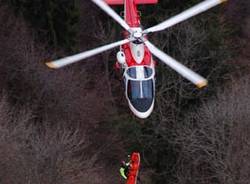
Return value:
<svg viewBox="0 0 250 184">
<path fill-rule="evenodd" d="M 117 53 L 117 63 L 124 71 L 125 95 L 129 107 L 137 117 L 147 118 L 153 111 L 155 101 L 155 62 L 152 55 L 199 88 L 207 85 L 205 78 L 159 50 L 148 40 L 147 35 L 165 30 L 225 1 L 226 0 L 205 0 L 156 26 L 143 30 L 137 5 L 155 4 L 158 0 L 92 0 L 92 2 L 110 15 L 126 30 L 124 40 L 46 64 L 50 68 L 61 68 L 120 46 L 120 51 Z M 109 5 L 124 5 L 124 19 L 110 8 Z"/>
</svg>

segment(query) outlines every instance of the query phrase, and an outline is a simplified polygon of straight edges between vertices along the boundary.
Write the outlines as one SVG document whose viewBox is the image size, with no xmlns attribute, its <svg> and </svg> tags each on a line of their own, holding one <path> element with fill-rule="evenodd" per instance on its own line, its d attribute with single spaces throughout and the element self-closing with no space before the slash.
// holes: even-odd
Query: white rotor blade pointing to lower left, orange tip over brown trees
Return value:
<svg viewBox="0 0 250 184">
<path fill-rule="evenodd" d="M 62 59 L 59 59 L 56 61 L 48 62 L 48 63 L 46 63 L 46 65 L 50 68 L 61 68 L 63 66 L 66 66 L 66 65 L 75 63 L 77 61 L 86 59 L 88 57 L 94 56 L 94 55 L 99 54 L 101 52 L 118 47 L 120 45 L 124 45 L 128 42 L 130 42 L 130 40 L 128 40 L 128 39 L 121 40 L 121 41 L 118 41 L 115 43 L 111 43 L 109 45 L 104 45 L 104 46 L 98 47 L 98 48 L 93 49 L 93 50 L 82 52 L 80 54 L 76 54 L 76 55 L 65 57 L 65 58 L 62 58 Z"/>
</svg>

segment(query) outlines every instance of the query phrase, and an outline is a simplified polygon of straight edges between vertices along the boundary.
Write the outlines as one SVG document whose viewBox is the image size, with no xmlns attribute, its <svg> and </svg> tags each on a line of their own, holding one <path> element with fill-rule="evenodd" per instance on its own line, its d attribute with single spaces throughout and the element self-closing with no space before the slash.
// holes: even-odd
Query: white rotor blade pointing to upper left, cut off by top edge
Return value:
<svg viewBox="0 0 250 184">
<path fill-rule="evenodd" d="M 92 0 L 97 6 L 99 6 L 103 11 L 109 14 L 113 19 L 115 19 L 122 27 L 127 31 L 130 30 L 129 25 L 103 0 Z"/>
</svg>

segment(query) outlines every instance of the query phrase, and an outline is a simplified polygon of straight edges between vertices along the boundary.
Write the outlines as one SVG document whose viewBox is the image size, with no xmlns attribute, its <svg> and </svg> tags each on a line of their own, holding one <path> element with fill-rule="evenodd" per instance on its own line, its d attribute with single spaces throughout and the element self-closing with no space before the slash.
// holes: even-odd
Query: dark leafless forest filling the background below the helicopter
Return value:
<svg viewBox="0 0 250 184">
<path fill-rule="evenodd" d="M 138 8 L 150 27 L 199 2 Z M 250 183 L 250 1 L 150 35 L 209 85 L 197 89 L 157 62 L 146 120 L 128 108 L 118 49 L 59 70 L 45 65 L 122 38 L 91 1 L 0 0 L 0 25 L 0 183 L 125 183 L 119 168 L 133 151 L 142 184 Z"/>
</svg>

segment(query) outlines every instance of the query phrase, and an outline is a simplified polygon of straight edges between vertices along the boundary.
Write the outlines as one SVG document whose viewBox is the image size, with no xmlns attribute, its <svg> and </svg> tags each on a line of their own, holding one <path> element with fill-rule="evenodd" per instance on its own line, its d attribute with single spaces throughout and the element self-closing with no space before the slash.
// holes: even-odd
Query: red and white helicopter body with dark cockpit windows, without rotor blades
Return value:
<svg viewBox="0 0 250 184">
<path fill-rule="evenodd" d="M 154 108 L 155 64 L 152 54 L 141 39 L 140 16 L 134 1 L 124 1 L 124 20 L 131 27 L 131 34 L 124 32 L 124 37 L 134 41 L 124 44 L 117 53 L 118 63 L 124 70 L 125 96 L 129 108 L 139 118 L 147 118 Z"/>
</svg>

